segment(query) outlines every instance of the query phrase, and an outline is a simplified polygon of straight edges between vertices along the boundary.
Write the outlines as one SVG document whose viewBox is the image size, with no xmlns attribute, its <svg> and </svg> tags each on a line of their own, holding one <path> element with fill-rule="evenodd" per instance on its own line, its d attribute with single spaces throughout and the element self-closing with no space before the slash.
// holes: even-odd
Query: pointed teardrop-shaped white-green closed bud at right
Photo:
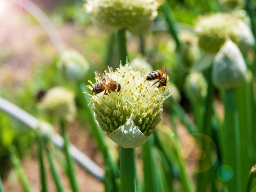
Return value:
<svg viewBox="0 0 256 192">
<path fill-rule="evenodd" d="M 247 67 L 237 45 L 227 40 L 213 61 L 213 84 L 220 89 L 233 89 L 245 82 Z"/>
</svg>

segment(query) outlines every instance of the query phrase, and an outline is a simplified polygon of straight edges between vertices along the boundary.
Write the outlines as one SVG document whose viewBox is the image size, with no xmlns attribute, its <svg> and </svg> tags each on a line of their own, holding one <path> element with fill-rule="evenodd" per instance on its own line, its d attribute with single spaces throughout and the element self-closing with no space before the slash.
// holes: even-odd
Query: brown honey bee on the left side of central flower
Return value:
<svg viewBox="0 0 256 192">
<path fill-rule="evenodd" d="M 121 85 L 117 83 L 117 81 L 112 80 L 111 78 L 101 73 L 100 71 L 94 71 L 94 73 L 97 76 L 101 77 L 102 80 L 93 87 L 92 94 L 93 93 L 99 94 L 105 90 L 104 95 L 108 95 L 107 91 L 110 93 L 110 92 L 115 92 L 115 90 L 117 90 L 117 92 L 121 90 Z"/>
</svg>

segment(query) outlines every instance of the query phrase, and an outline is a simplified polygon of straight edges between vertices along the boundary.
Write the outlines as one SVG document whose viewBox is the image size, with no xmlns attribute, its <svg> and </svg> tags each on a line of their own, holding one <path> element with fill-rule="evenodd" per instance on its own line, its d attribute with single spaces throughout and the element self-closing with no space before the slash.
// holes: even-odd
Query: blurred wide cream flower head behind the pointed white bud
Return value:
<svg viewBox="0 0 256 192">
<path fill-rule="evenodd" d="M 209 53 L 217 53 L 225 43 L 226 36 L 229 36 L 243 53 L 255 44 L 250 28 L 234 14 L 216 13 L 201 17 L 195 31 L 199 37 L 199 46 Z"/>
</svg>

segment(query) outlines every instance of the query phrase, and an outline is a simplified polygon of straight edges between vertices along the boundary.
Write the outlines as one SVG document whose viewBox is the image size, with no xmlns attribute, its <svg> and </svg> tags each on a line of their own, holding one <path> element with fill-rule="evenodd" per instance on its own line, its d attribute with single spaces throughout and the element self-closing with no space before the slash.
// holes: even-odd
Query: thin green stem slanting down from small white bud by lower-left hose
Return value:
<svg viewBox="0 0 256 192">
<path fill-rule="evenodd" d="M 54 183 L 55 183 L 55 186 L 56 186 L 56 191 L 57 192 L 63 192 L 63 186 L 61 184 L 61 177 L 59 176 L 58 172 L 57 172 L 57 169 L 56 169 L 56 166 L 54 165 L 54 161 L 53 161 L 53 158 L 52 158 L 52 154 L 47 146 L 47 144 L 49 143 L 50 139 L 47 138 L 47 143 L 45 143 L 45 150 L 46 150 L 46 154 L 47 154 L 47 157 L 48 157 L 48 161 L 49 161 L 49 165 L 50 165 L 50 170 L 51 170 L 51 173 L 52 173 L 52 177 L 53 177 L 53 180 L 54 180 Z"/>
</svg>

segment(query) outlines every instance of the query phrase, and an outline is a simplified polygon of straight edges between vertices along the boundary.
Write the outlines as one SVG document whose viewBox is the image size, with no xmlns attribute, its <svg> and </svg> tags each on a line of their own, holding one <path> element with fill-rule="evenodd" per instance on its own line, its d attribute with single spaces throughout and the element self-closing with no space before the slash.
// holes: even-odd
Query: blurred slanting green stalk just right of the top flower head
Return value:
<svg viewBox="0 0 256 192">
<path fill-rule="evenodd" d="M 175 42 L 176 42 L 176 49 L 178 52 L 181 51 L 181 43 L 180 40 L 178 38 L 178 33 L 177 33 L 177 29 L 176 29 L 176 25 L 174 22 L 174 18 L 172 15 L 172 9 L 171 6 L 168 4 L 167 1 L 164 2 L 164 4 L 162 4 L 162 9 L 164 11 L 164 14 L 166 16 L 166 22 L 168 24 L 168 28 L 169 31 L 171 33 L 171 35 L 173 36 Z"/>
</svg>

